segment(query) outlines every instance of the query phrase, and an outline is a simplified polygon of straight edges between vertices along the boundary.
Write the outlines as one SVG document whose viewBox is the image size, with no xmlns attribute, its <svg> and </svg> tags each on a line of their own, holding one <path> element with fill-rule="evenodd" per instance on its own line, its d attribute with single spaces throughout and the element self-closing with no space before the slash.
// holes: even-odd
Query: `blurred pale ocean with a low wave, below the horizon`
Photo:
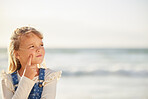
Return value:
<svg viewBox="0 0 148 99">
<path fill-rule="evenodd" d="M 56 99 L 148 99 L 148 49 L 46 49 L 45 60 L 63 71 Z"/>
</svg>

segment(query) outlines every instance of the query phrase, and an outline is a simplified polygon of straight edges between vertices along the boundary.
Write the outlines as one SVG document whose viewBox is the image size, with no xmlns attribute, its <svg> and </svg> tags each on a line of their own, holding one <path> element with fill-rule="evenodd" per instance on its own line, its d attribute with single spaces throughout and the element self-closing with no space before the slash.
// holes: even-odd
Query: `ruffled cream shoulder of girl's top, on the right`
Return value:
<svg viewBox="0 0 148 99">
<path fill-rule="evenodd" d="M 45 69 L 45 83 L 50 83 L 54 80 L 59 80 L 61 77 L 62 71 L 55 71 L 50 68 Z"/>
</svg>

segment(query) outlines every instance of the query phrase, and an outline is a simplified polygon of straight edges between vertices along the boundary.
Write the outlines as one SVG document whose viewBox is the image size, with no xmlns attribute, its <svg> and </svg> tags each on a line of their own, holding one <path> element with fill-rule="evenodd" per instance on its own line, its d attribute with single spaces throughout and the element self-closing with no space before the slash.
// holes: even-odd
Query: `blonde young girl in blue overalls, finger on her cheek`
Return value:
<svg viewBox="0 0 148 99">
<path fill-rule="evenodd" d="M 61 71 L 46 68 L 42 34 L 32 27 L 14 31 L 9 45 L 9 73 L 2 73 L 4 99 L 55 99 Z"/>
</svg>

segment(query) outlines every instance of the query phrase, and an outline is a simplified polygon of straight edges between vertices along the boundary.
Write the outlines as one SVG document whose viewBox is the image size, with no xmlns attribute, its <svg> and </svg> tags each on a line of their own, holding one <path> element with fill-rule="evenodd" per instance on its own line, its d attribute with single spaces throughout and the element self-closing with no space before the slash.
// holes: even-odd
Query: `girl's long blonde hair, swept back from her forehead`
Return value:
<svg viewBox="0 0 148 99">
<path fill-rule="evenodd" d="M 10 38 L 10 45 L 9 45 L 9 73 L 12 73 L 16 70 L 19 70 L 21 68 L 21 63 L 19 59 L 17 59 L 14 55 L 15 51 L 19 50 L 21 37 L 28 34 L 33 33 L 36 36 L 38 36 L 40 39 L 43 39 L 43 35 L 37 31 L 35 28 L 32 27 L 21 27 L 17 28 L 11 38 Z"/>
</svg>

